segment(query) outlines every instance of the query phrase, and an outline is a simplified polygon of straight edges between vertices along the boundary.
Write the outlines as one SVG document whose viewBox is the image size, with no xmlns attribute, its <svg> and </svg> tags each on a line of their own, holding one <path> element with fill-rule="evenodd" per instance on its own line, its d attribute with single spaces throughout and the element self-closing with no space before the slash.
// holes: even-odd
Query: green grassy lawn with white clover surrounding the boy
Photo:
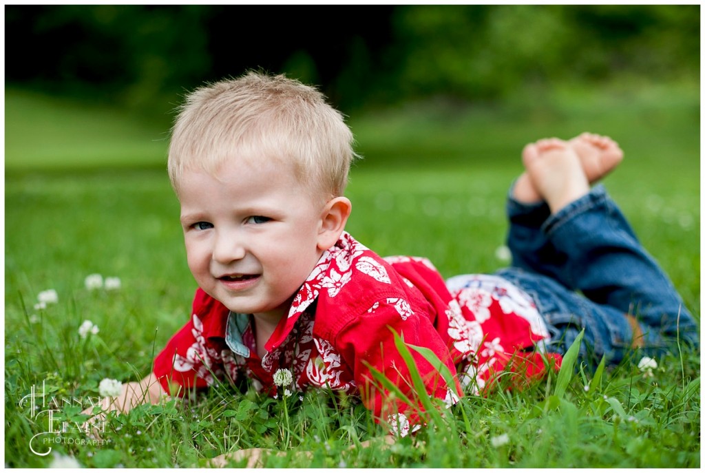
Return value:
<svg viewBox="0 0 705 473">
<path fill-rule="evenodd" d="M 351 173 L 348 230 L 380 254 L 427 256 L 445 276 L 505 264 L 496 257 L 504 196 L 526 142 L 613 136 L 626 158 L 606 186 L 699 319 L 697 88 L 566 88 L 496 108 L 410 104 L 350 125 L 364 159 Z M 6 94 L 6 466 L 66 455 L 85 467 L 188 467 L 250 447 L 285 451 L 266 457 L 273 467 L 700 466 L 699 355 L 690 352 L 658 360 L 653 377 L 636 363 L 579 367 L 570 380 L 463 398 L 440 424 L 387 450 L 349 449 L 383 434 L 353 400 L 271 400 L 229 386 L 110 417 L 99 442 L 72 429 L 32 440 L 49 428 L 27 398 L 33 387 L 47 402 L 63 399 L 56 415 L 71 426 L 99 381 L 145 376 L 189 317 L 195 283 L 164 171 L 165 133 L 119 111 Z M 121 287 L 88 290 L 90 274 Z M 35 309 L 49 289 L 58 302 Z M 82 338 L 85 320 L 99 331 Z"/>
</svg>

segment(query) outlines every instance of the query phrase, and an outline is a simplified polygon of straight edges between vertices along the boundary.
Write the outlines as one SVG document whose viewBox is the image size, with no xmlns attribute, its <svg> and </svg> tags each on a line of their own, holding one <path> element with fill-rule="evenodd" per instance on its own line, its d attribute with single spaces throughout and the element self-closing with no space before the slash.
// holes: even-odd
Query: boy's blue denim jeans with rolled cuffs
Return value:
<svg viewBox="0 0 705 473">
<path fill-rule="evenodd" d="M 543 202 L 511 197 L 507 211 L 513 261 L 497 274 L 533 297 L 551 332 L 549 352 L 565 353 L 584 328 L 582 359 L 618 363 L 634 337 L 625 314 L 639 323 L 644 355 L 675 350 L 677 338 L 698 346 L 698 326 L 673 283 L 602 185 L 554 215 Z"/>
</svg>

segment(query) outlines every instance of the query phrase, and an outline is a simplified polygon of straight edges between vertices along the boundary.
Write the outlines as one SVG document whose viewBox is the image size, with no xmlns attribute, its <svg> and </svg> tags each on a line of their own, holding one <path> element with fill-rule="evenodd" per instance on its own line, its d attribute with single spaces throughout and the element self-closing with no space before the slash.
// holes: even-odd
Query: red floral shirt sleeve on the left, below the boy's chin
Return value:
<svg viewBox="0 0 705 473">
<path fill-rule="evenodd" d="M 192 316 L 168 341 L 154 360 L 154 375 L 166 393 L 183 396 L 190 389 L 206 388 L 223 372 L 219 352 L 204 336 L 213 309 L 209 298 L 199 290 L 194 298 Z"/>
</svg>

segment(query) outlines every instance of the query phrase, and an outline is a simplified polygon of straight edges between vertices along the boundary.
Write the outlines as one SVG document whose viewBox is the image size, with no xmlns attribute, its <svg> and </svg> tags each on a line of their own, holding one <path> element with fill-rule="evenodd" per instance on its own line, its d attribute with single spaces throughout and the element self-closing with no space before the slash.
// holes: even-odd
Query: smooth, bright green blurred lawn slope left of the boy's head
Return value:
<svg viewBox="0 0 705 473">
<path fill-rule="evenodd" d="M 168 117 L 160 129 L 128 111 L 13 89 L 5 117 L 8 168 L 166 164 Z"/>
</svg>

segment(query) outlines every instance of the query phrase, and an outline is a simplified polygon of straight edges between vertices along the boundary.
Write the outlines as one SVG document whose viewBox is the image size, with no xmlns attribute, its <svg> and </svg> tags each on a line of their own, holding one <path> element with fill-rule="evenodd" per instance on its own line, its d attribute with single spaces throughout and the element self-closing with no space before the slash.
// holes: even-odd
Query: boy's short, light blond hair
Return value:
<svg viewBox="0 0 705 473">
<path fill-rule="evenodd" d="M 321 92 L 284 75 L 250 72 L 188 94 L 174 123 L 168 173 L 178 192 L 187 169 L 217 174 L 237 156 L 293 164 L 300 183 L 328 197 L 343 195 L 353 133 Z"/>
</svg>

